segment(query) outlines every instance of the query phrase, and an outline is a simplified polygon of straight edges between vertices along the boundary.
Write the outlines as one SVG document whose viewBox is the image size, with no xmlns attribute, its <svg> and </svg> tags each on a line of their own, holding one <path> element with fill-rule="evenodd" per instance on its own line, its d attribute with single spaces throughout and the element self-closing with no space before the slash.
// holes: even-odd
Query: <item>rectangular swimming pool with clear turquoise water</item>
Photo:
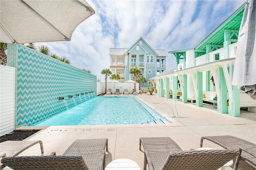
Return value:
<svg viewBox="0 0 256 170">
<path fill-rule="evenodd" d="M 31 126 L 167 123 L 171 122 L 134 96 L 96 96 Z"/>
</svg>

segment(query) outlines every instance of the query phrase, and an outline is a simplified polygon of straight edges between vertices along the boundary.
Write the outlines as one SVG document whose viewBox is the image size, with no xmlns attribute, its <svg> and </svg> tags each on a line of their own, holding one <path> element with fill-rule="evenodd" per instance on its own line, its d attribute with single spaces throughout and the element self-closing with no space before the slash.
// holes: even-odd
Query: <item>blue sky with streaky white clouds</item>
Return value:
<svg viewBox="0 0 256 170">
<path fill-rule="evenodd" d="M 196 47 L 246 0 L 86 0 L 95 14 L 73 32 L 71 41 L 35 43 L 66 57 L 72 66 L 92 71 L 110 68 L 110 48 L 129 48 L 142 37 L 153 49 Z M 166 70 L 175 68 L 168 54 Z"/>
</svg>

